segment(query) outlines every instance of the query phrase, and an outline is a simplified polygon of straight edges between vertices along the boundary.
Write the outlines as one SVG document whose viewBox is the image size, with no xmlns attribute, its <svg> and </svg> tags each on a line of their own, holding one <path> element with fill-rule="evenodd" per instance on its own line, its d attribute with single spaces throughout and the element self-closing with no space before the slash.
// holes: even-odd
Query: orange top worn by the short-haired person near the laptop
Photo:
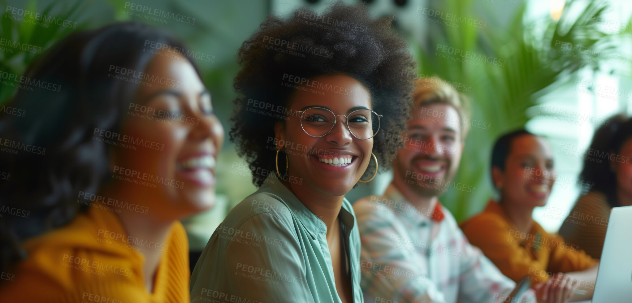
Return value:
<svg viewBox="0 0 632 303">
<path fill-rule="evenodd" d="M 598 262 L 562 237 L 547 233 L 535 221 L 529 233 L 518 232 L 494 201 L 482 213 L 461 223 L 461 229 L 472 245 L 483 250 L 502 274 L 514 281 L 528 277 L 532 283 L 542 283 L 554 273 L 581 271 Z"/>
</svg>

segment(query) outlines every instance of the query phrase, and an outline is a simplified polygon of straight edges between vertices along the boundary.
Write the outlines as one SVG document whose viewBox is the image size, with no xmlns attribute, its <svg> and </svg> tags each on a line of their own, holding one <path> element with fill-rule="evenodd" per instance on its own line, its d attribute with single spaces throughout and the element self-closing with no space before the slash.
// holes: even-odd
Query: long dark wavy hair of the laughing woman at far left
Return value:
<svg viewBox="0 0 632 303">
<path fill-rule="evenodd" d="M 42 85 L 18 89 L 5 105 L 26 111 L 25 116 L 0 116 L 0 140 L 39 147 L 37 153 L 2 152 L 0 157 L 0 171 L 11 174 L 10 181 L 0 182 L 0 206 L 20 209 L 24 217 L 30 212 L 29 218 L 2 217 L 0 270 L 26 257 L 23 240 L 66 225 L 85 211 L 75 202 L 78 192 L 98 192 L 109 180 L 112 147 L 92 140 L 92 130 L 119 132 L 138 85 L 108 71 L 112 65 L 144 71 L 155 56 L 147 51 L 147 40 L 183 47 L 149 25 L 115 23 L 70 34 L 28 66 L 23 76 L 58 85 L 53 88 L 59 91 Z"/>
</svg>

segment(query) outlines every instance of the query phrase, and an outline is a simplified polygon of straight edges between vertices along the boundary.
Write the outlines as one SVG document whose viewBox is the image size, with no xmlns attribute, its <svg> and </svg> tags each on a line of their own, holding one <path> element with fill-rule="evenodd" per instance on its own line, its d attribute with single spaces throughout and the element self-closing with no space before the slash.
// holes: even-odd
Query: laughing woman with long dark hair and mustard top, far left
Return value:
<svg viewBox="0 0 632 303">
<path fill-rule="evenodd" d="M 2 271 L 15 277 L 3 302 L 190 302 L 178 220 L 214 206 L 224 130 L 177 49 L 161 30 L 115 23 L 28 67 L 61 89 L 18 89 L 9 105 L 26 117 L 0 119 L 3 140 L 46 149 L 1 158 L 3 208 L 30 214 L 1 218 Z"/>
</svg>

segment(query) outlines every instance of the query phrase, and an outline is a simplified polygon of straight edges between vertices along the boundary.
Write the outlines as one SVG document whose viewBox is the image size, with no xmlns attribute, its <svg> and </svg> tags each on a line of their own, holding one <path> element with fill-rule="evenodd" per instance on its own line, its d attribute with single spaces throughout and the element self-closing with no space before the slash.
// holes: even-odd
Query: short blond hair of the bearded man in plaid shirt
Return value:
<svg viewBox="0 0 632 303">
<path fill-rule="evenodd" d="M 415 108 L 428 104 L 447 104 L 456 109 L 459 114 L 461 140 L 465 140 L 470 131 L 471 108 L 470 100 L 449 82 L 438 77 L 419 78 L 415 81 L 413 92 L 413 106 Z"/>
</svg>

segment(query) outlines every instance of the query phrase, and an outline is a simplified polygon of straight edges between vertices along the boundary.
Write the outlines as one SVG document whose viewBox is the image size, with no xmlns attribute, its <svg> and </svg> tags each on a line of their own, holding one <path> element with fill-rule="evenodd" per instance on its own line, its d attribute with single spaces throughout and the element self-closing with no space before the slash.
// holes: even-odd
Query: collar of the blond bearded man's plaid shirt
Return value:
<svg viewBox="0 0 632 303">
<path fill-rule="evenodd" d="M 428 209 L 420 209 L 418 206 L 414 206 L 410 204 L 408 200 L 404 197 L 404 195 L 399 192 L 399 190 L 392 183 L 384 192 L 384 197 L 389 199 L 389 201 L 381 202 L 380 204 L 387 203 L 386 205 L 390 207 L 396 214 L 402 216 L 404 218 L 409 218 L 413 224 L 425 222 L 435 222 L 441 223 L 444 218 L 446 218 L 444 207 L 441 205 L 441 202 L 437 201 L 435 207 L 432 211 Z"/>
</svg>

